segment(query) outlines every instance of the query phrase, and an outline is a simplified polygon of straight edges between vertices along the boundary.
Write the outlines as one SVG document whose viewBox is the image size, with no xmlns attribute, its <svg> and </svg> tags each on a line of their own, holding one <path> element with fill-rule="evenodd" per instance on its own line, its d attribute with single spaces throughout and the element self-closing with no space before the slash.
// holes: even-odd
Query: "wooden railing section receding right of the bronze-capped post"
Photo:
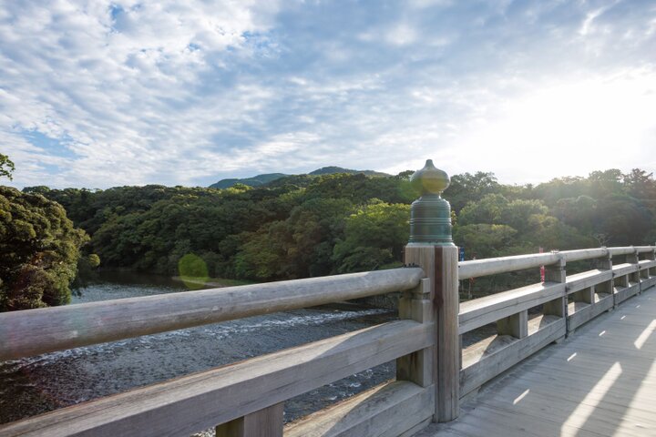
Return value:
<svg viewBox="0 0 656 437">
<path fill-rule="evenodd" d="M 461 397 L 655 285 L 654 249 L 582 249 L 461 262 L 459 279 L 545 266 L 544 282 L 460 304 L 461 335 L 490 323 L 497 331 L 462 350 Z M 595 261 L 592 269 L 567 274 L 568 262 L 587 259 Z"/>
</svg>

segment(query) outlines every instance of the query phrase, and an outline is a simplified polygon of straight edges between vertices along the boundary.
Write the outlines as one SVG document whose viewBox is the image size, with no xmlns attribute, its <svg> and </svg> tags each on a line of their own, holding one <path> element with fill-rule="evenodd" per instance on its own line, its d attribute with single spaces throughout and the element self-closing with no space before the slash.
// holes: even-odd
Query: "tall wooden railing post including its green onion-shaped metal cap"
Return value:
<svg viewBox="0 0 656 437">
<path fill-rule="evenodd" d="M 434 422 L 450 422 L 460 412 L 460 337 L 458 335 L 458 249 L 451 238 L 451 208 L 440 193 L 448 187 L 446 173 L 426 161 L 410 179 L 421 193 L 410 217 L 405 264 L 418 265 L 430 279 L 432 312 L 436 319 L 433 373 L 436 402 Z M 416 378 L 417 375 L 414 376 Z"/>
</svg>

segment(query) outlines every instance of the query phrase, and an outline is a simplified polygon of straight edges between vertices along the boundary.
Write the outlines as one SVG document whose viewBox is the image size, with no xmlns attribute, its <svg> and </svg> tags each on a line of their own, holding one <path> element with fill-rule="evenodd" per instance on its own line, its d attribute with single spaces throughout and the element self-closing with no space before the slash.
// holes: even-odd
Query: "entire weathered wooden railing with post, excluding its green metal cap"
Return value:
<svg viewBox="0 0 656 437">
<path fill-rule="evenodd" d="M 456 261 L 410 244 L 404 269 L 0 314 L 0 360 L 403 291 L 400 320 L 0 426 L 2 436 L 411 435 L 581 324 L 656 284 L 656 247 Z M 572 275 L 567 263 L 593 259 Z M 417 267 L 418 266 L 418 267 Z M 459 304 L 458 279 L 545 266 L 545 281 Z M 536 270 L 537 271 L 537 270 Z M 496 333 L 461 348 L 463 334 Z M 396 381 L 283 427 L 284 401 L 386 361 Z M 108 377 L 111 377 L 108 375 Z"/>
</svg>

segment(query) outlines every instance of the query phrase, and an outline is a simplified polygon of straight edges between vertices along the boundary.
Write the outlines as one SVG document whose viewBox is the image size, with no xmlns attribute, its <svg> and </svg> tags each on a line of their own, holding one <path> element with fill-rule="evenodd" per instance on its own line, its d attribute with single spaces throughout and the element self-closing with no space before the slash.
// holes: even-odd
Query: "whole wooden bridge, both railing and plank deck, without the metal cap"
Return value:
<svg viewBox="0 0 656 437">
<path fill-rule="evenodd" d="M 399 320 L 9 423 L 0 436 L 656 435 L 656 246 L 458 262 L 452 244 L 411 242 L 405 264 L 0 314 L 2 361 L 403 291 Z M 544 281 L 458 300 L 459 280 L 538 278 L 541 266 Z M 462 342 L 483 328 L 494 332 Z M 395 381 L 283 424 L 284 401 L 387 361 Z"/>
</svg>

